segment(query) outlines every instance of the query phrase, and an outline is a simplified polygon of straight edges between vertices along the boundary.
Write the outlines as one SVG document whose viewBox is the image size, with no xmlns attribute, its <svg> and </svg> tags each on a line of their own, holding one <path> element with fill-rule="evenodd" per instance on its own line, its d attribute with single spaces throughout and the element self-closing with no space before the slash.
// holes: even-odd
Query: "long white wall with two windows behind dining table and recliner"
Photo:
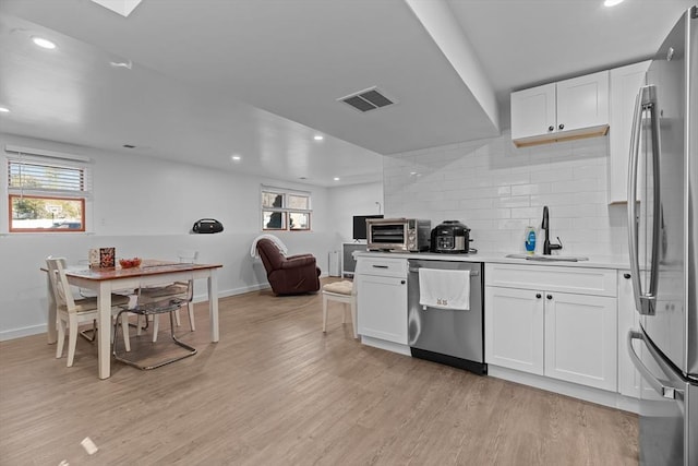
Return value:
<svg viewBox="0 0 698 466">
<path fill-rule="evenodd" d="M 313 253 L 327 274 L 327 252 L 336 249 L 337 236 L 327 189 L 0 134 L 0 146 L 5 144 L 93 158 L 95 222 L 92 234 L 0 234 L 0 339 L 45 332 L 46 283 L 39 267 L 50 254 L 77 263 L 89 248 L 113 246 L 118 256 L 177 260 L 178 249 L 196 249 L 200 262 L 224 265 L 221 296 L 268 286 L 262 263 L 250 256 L 261 234 L 261 183 L 311 191 L 313 231 L 278 237 L 290 253 Z M 7 201 L 0 205 L 7 231 Z M 190 235 L 202 217 L 219 219 L 225 230 Z M 205 294 L 204 286 L 197 284 L 196 296 Z"/>
</svg>

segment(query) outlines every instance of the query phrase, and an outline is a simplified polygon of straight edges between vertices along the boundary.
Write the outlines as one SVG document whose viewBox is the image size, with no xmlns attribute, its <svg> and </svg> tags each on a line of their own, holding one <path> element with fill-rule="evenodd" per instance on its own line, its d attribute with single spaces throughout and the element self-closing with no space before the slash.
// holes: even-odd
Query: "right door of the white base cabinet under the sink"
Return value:
<svg viewBox="0 0 698 466">
<path fill-rule="evenodd" d="M 616 301 L 545 294 L 545 375 L 616 391 Z"/>
</svg>

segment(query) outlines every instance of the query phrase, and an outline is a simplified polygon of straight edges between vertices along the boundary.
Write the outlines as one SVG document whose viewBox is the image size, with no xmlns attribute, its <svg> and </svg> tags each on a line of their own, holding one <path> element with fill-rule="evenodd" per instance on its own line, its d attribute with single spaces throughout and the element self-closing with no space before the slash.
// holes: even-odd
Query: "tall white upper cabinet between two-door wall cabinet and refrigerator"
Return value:
<svg viewBox="0 0 698 466">
<path fill-rule="evenodd" d="M 611 70 L 609 134 L 609 204 L 627 202 L 628 155 L 635 98 L 651 61 Z"/>
</svg>

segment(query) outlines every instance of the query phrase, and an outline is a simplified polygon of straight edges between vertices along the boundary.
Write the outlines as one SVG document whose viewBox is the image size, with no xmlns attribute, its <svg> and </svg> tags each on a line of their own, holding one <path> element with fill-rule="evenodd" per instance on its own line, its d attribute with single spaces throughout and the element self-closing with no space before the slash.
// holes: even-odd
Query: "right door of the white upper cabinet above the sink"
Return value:
<svg viewBox="0 0 698 466">
<path fill-rule="evenodd" d="M 609 124 L 609 72 L 557 83 L 557 127 L 573 131 Z"/>
</svg>

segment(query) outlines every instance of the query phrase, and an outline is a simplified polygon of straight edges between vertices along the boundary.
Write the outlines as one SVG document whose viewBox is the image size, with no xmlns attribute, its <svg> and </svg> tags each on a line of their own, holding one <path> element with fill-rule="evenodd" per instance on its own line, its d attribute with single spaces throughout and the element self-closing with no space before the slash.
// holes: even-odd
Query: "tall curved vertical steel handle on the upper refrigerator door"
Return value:
<svg viewBox="0 0 698 466">
<path fill-rule="evenodd" d="M 642 112 L 650 113 L 650 128 L 652 140 L 652 250 L 650 265 L 649 290 L 642 290 L 640 267 L 638 258 L 638 224 L 637 215 L 637 171 L 639 165 L 640 134 Z M 642 315 L 654 315 L 657 302 L 657 285 L 659 280 L 659 241 L 661 220 L 660 199 L 660 142 L 659 142 L 659 116 L 657 104 L 657 87 L 642 86 L 635 100 L 635 115 L 633 119 L 633 132 L 630 139 L 630 157 L 628 166 L 628 246 L 630 250 L 630 271 L 633 275 L 633 290 L 635 308 Z"/>
</svg>

